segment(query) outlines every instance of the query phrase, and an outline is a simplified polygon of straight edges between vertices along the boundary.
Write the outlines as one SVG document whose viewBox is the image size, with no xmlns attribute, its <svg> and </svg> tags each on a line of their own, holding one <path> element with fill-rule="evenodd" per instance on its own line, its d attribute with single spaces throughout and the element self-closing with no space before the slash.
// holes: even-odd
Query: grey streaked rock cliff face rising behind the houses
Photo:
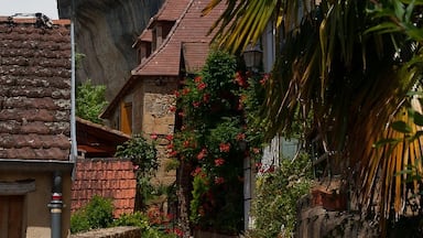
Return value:
<svg viewBox="0 0 423 238">
<path fill-rule="evenodd" d="M 107 85 L 110 101 L 137 66 L 132 48 L 164 0 L 74 0 L 76 52 L 84 54 L 77 82 Z M 70 19 L 72 0 L 57 0 L 61 19 Z"/>
</svg>

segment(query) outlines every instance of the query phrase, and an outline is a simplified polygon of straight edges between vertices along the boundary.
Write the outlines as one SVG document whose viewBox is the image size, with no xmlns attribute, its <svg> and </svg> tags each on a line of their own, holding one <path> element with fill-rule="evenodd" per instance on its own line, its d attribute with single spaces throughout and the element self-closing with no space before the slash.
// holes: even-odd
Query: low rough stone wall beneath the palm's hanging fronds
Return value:
<svg viewBox="0 0 423 238">
<path fill-rule="evenodd" d="M 339 181 L 315 185 L 311 194 L 297 203 L 295 237 L 379 237 L 378 223 L 366 218 L 360 210 L 348 209 L 346 193 Z"/>
</svg>

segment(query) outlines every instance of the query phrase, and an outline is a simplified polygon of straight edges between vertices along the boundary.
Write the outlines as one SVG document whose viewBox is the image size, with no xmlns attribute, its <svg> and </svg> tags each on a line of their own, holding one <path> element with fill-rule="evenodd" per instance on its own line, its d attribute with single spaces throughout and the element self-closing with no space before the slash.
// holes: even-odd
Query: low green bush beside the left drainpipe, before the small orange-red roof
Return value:
<svg viewBox="0 0 423 238">
<path fill-rule="evenodd" d="M 106 228 L 113 220 L 111 199 L 95 195 L 89 203 L 70 217 L 70 232 Z"/>
</svg>

